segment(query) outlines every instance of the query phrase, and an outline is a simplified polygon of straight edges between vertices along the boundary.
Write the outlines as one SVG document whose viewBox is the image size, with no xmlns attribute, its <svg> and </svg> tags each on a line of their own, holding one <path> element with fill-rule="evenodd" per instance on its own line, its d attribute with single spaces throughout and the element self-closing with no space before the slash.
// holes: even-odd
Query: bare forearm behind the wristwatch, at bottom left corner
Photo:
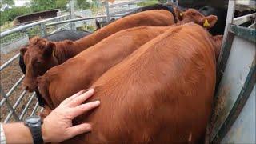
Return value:
<svg viewBox="0 0 256 144">
<path fill-rule="evenodd" d="M 22 122 L 2 124 L 8 143 L 33 143 L 30 129 Z"/>
</svg>

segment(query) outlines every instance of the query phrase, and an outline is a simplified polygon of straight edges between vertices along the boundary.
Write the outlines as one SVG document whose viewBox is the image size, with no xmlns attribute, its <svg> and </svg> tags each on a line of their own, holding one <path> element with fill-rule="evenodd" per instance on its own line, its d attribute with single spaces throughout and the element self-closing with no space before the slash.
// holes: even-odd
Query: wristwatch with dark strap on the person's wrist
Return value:
<svg viewBox="0 0 256 144">
<path fill-rule="evenodd" d="M 30 132 L 32 134 L 33 142 L 34 144 L 42 144 L 42 120 L 41 117 L 34 115 L 30 116 L 29 118 L 26 118 L 26 121 L 24 122 L 25 126 L 29 127 Z"/>
</svg>

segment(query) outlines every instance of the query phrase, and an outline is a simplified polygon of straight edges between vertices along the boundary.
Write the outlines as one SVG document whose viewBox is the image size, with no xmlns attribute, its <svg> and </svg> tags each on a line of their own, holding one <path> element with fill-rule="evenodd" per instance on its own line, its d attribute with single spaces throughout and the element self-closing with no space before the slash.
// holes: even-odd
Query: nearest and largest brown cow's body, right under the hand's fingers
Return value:
<svg viewBox="0 0 256 144">
<path fill-rule="evenodd" d="M 215 46 L 191 23 L 147 42 L 94 83 L 90 100 L 101 106 L 74 122 L 93 130 L 67 143 L 198 142 L 213 106 Z"/>
</svg>

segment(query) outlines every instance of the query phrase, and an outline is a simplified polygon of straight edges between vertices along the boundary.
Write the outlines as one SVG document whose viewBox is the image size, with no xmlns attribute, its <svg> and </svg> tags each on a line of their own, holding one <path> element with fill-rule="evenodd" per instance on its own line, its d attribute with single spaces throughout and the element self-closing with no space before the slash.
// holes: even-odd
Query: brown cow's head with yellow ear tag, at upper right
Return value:
<svg viewBox="0 0 256 144">
<path fill-rule="evenodd" d="M 194 22 L 200 26 L 203 26 L 207 29 L 210 29 L 215 25 L 218 18 L 215 15 L 204 16 L 198 10 L 188 9 L 184 12 L 178 11 L 176 12 L 178 20 L 181 22 Z"/>
</svg>

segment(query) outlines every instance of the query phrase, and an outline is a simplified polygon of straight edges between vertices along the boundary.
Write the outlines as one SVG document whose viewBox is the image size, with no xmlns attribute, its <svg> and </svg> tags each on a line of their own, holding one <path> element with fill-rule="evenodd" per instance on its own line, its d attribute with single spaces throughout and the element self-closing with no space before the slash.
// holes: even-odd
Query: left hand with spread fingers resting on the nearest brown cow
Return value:
<svg viewBox="0 0 256 144">
<path fill-rule="evenodd" d="M 44 142 L 62 142 L 91 130 L 89 123 L 72 126 L 72 120 L 99 106 L 99 101 L 85 102 L 94 94 L 94 89 L 81 90 L 77 94 L 66 98 L 56 109 L 54 109 L 43 121 L 42 138 Z"/>
</svg>

